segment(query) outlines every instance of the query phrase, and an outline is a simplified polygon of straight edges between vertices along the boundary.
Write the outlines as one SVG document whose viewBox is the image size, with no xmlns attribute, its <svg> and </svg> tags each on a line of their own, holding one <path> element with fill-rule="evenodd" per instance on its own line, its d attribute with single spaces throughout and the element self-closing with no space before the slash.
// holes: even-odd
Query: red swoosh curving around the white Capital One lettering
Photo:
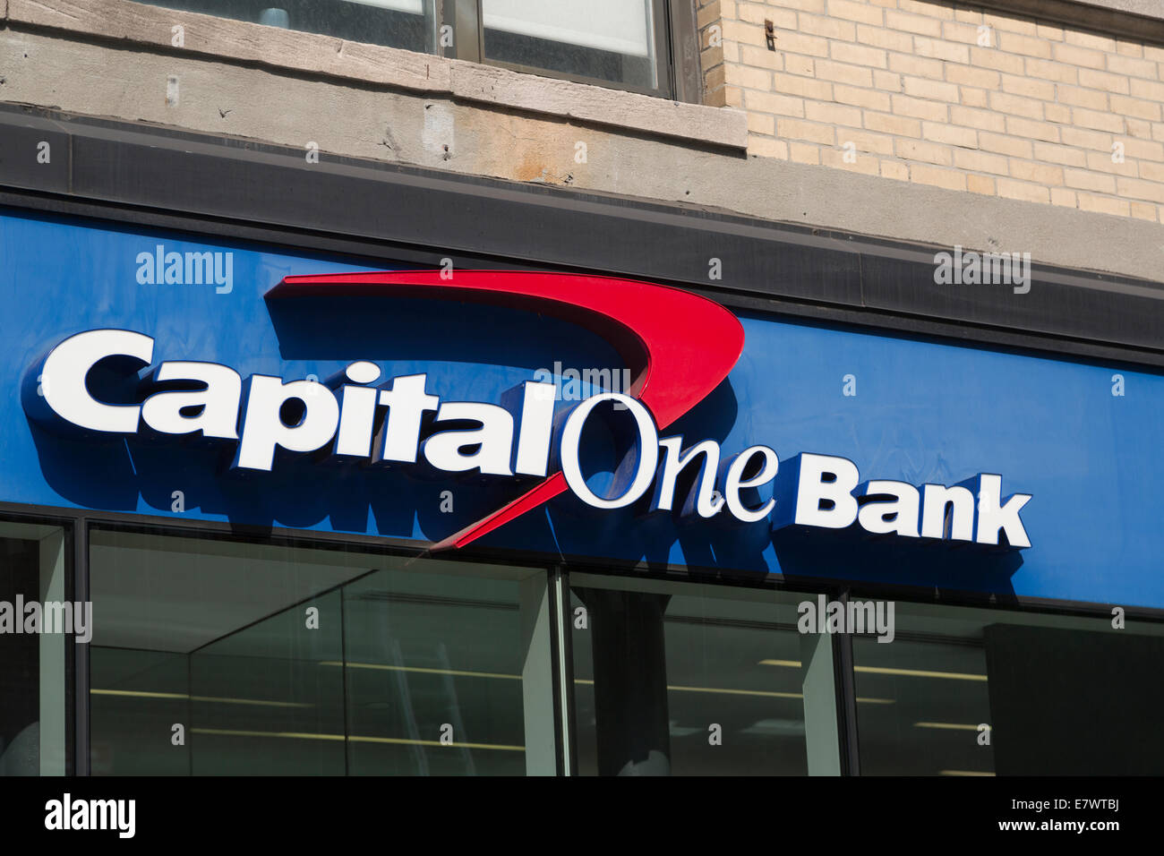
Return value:
<svg viewBox="0 0 1164 856">
<path fill-rule="evenodd" d="M 524 309 L 577 324 L 609 341 L 634 377 L 627 395 L 659 429 L 703 401 L 744 351 L 739 320 L 714 300 L 634 280 L 499 270 L 398 270 L 289 276 L 267 298 L 296 296 L 421 297 Z M 432 546 L 462 547 L 567 488 L 560 472 Z"/>
</svg>

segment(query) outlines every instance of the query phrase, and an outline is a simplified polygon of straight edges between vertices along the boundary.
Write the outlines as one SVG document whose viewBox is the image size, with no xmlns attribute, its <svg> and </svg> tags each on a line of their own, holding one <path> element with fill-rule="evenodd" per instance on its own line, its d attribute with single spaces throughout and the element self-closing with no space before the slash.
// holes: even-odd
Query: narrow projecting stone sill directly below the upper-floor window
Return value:
<svg viewBox="0 0 1164 856">
<path fill-rule="evenodd" d="M 743 111 L 669 101 L 410 50 L 177 12 L 129 0 L 0 0 L 9 26 L 66 30 L 157 52 L 200 55 L 326 77 L 452 95 L 707 146 L 747 148 Z M 182 47 L 172 28 L 183 28 Z"/>
</svg>

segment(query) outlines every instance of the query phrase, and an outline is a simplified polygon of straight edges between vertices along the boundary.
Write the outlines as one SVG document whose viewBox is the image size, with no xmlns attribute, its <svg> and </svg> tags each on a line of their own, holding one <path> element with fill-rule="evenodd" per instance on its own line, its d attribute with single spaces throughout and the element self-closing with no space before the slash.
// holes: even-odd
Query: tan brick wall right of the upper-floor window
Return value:
<svg viewBox="0 0 1164 856">
<path fill-rule="evenodd" d="M 1162 219 L 1164 45 L 949 0 L 696 2 L 752 155 Z"/>
</svg>

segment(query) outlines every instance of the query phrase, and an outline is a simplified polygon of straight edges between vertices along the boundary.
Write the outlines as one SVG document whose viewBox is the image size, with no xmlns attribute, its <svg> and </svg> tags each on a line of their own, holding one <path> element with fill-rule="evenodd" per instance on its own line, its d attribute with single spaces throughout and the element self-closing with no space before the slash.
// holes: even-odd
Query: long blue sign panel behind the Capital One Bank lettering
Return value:
<svg viewBox="0 0 1164 856">
<path fill-rule="evenodd" d="M 612 415 L 611 424 L 633 423 L 641 408 L 624 395 L 625 354 L 567 319 L 418 295 L 264 299 L 288 276 L 368 270 L 341 259 L 15 212 L 0 215 L 0 252 L 9 307 L 0 321 L 0 377 L 9 389 L 0 398 L 0 498 L 8 502 L 441 542 L 546 474 L 534 439 L 548 437 L 549 410 L 537 410 L 545 430 L 518 448 L 523 418 L 534 412 L 531 389 L 554 398 L 559 426 L 572 406 L 577 413 L 580 402 L 604 391 L 608 404 L 630 411 Z M 594 508 L 602 501 L 580 496 L 618 494 L 626 450 L 598 432 L 580 439 L 579 426 L 567 467 L 573 489 L 478 543 L 792 581 L 854 579 L 1164 608 L 1156 573 L 1164 532 L 1154 495 L 1164 465 L 1152 454 L 1164 445 L 1164 379 L 764 316 L 739 321 L 738 362 L 660 432 L 660 471 L 672 452 L 677 460 L 704 438 L 716 454 L 723 450 L 724 464 L 752 448 L 774 454 L 753 454 L 751 469 L 745 461 L 730 476 L 672 472 L 666 502 L 659 488 L 666 480 L 655 480 L 639 502 Z M 112 341 L 79 335 L 91 331 L 123 331 L 122 363 L 126 354 L 142 359 L 98 363 L 88 387 L 108 409 L 69 412 L 74 426 L 92 417 L 100 427 L 100 419 L 114 425 L 132 411 L 134 426 L 120 433 L 69 433 L 36 417 L 41 404 L 63 401 L 64 387 L 45 395 L 47 354 L 66 341 L 73 355 Z M 147 340 L 149 353 L 135 351 Z M 139 379 L 146 363 L 155 368 Z M 175 368 L 190 366 L 203 368 Z M 199 372 L 227 390 L 232 377 L 247 380 L 236 405 L 285 406 L 272 397 L 282 384 L 319 382 L 342 403 L 335 422 L 340 433 L 347 424 L 346 445 L 336 439 L 327 454 L 293 453 L 299 440 L 281 425 L 303 424 L 305 413 L 281 411 L 282 423 L 260 415 L 248 444 L 255 455 L 243 459 L 258 466 L 240 467 L 233 413 L 215 422 L 197 396 L 184 404 L 183 395 L 205 389 Z M 50 375 L 68 381 L 68 373 Z M 420 396 L 442 402 L 501 405 L 525 389 L 524 410 L 510 408 L 509 436 L 525 468 L 506 469 L 499 455 L 484 466 L 491 441 L 469 443 L 468 431 L 456 443 L 452 431 L 430 436 L 431 453 L 421 443 L 417 466 L 370 446 L 364 455 L 371 433 L 370 423 L 357 430 L 367 411 L 359 384 L 414 376 L 425 379 Z M 251 379 L 270 380 L 256 389 Z M 151 394 L 154 403 L 139 406 Z M 140 431 L 139 410 L 149 417 Z M 341 412 L 356 416 L 341 424 Z M 205 436 L 176 437 L 199 419 Z M 682 443 L 666 443 L 680 436 Z M 474 455 L 478 466 L 462 468 L 459 461 Z M 766 467 L 775 472 L 776 458 L 767 493 L 748 493 L 748 479 L 759 481 Z M 731 514 L 711 516 L 725 502 Z"/>
</svg>

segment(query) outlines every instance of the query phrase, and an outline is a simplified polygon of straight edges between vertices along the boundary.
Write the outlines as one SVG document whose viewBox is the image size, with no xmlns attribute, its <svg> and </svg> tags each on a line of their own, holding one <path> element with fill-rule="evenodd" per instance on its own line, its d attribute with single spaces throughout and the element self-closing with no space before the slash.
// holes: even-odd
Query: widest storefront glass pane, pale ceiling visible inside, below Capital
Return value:
<svg viewBox="0 0 1164 856">
<path fill-rule="evenodd" d="M 94 774 L 554 765 L 545 572 L 95 531 Z M 547 658 L 548 660 L 548 655 Z M 533 757 L 537 755 L 537 757 Z M 547 758 L 548 756 L 548 758 Z"/>
</svg>

